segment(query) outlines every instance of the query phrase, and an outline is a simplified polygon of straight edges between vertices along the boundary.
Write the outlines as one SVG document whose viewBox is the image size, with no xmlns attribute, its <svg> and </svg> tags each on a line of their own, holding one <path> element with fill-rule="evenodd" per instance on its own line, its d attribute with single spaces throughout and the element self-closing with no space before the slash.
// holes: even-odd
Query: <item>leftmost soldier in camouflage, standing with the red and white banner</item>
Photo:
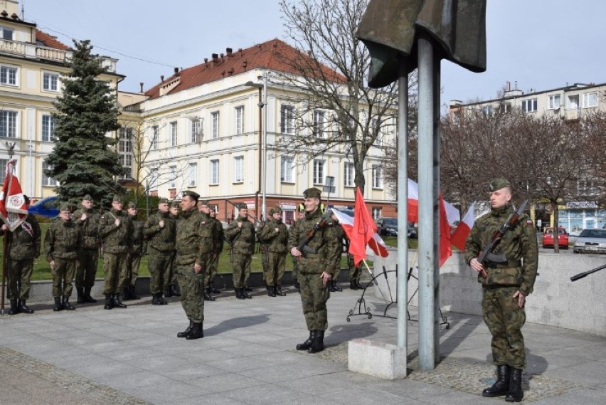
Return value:
<svg viewBox="0 0 606 405">
<path fill-rule="evenodd" d="M 28 196 L 23 195 L 25 203 L 29 206 Z M 33 314 L 33 310 L 26 305 L 29 298 L 31 273 L 33 270 L 33 259 L 40 256 L 40 241 L 42 231 L 38 220 L 33 215 L 26 216 L 14 231 L 9 231 L 6 223 L 2 224 L 2 232 L 6 241 L 6 273 L 9 276 L 7 295 L 11 302 L 9 315 L 19 312 Z"/>
</svg>

